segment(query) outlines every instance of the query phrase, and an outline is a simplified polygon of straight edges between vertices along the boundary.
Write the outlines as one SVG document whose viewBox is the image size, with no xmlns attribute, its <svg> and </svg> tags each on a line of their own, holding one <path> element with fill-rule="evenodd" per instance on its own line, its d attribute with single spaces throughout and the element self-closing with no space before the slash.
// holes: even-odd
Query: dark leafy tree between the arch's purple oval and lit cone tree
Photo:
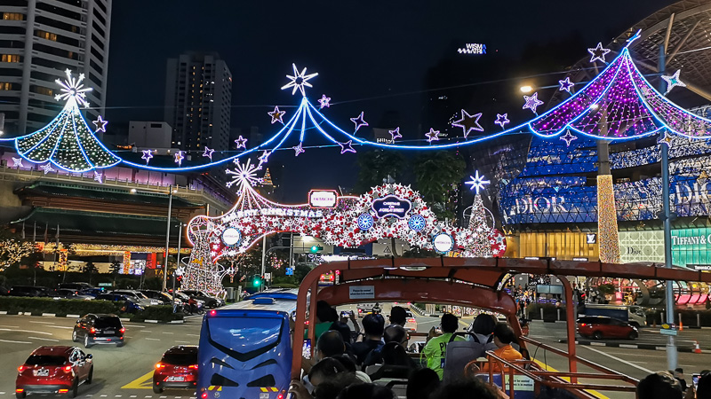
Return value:
<svg viewBox="0 0 711 399">
<path fill-rule="evenodd" d="M 453 153 L 440 151 L 419 155 L 413 170 L 417 189 L 438 218 L 453 218 L 459 182 L 464 176 L 464 160 Z"/>
</svg>

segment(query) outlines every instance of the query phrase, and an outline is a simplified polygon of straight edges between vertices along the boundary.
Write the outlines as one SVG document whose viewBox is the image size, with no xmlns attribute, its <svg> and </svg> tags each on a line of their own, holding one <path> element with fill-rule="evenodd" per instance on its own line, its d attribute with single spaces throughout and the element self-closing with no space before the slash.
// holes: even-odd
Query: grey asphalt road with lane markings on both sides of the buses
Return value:
<svg viewBox="0 0 711 399">
<path fill-rule="evenodd" d="M 340 309 L 340 308 L 339 308 Z M 348 309 L 348 308 L 346 308 Z M 353 307 L 355 309 L 355 307 Z M 387 315 L 389 306 L 383 312 Z M 438 317 L 416 316 L 418 331 L 427 332 L 439 325 Z M 165 390 L 156 395 L 150 387 L 153 366 L 165 349 L 172 345 L 196 345 L 200 333 L 200 317 L 188 318 L 182 325 L 153 325 L 124 323 L 126 344 L 124 348 L 94 346 L 86 350 L 94 357 L 94 382 L 79 387 L 80 398 L 121 398 L 121 399 L 189 399 L 194 392 L 189 390 Z M 464 328 L 471 317 L 460 320 Z M 25 317 L 0 315 L 0 399 L 12 397 L 17 367 L 27 359 L 29 353 L 41 345 L 77 345 L 71 341 L 75 320 L 60 317 Z M 559 342 L 565 336 L 563 323 L 532 322 L 531 339 L 539 340 L 555 348 L 566 349 Z M 691 331 L 703 335 L 704 331 Z M 664 346 L 664 338 L 657 332 L 643 330 L 640 340 Z M 710 342 L 702 342 L 706 348 Z M 629 342 L 627 342 L 629 343 Z M 578 354 L 596 364 L 603 364 L 617 372 L 642 379 L 651 372 L 667 368 L 666 352 L 638 348 L 607 348 L 604 346 L 579 345 Z M 557 371 L 567 371 L 568 364 L 561 356 L 544 349 L 530 348 L 531 356 L 547 367 Z M 691 373 L 709 368 L 710 354 L 679 353 L 679 366 L 686 372 L 687 382 Z M 579 367 L 579 372 L 592 372 Z M 595 381 L 600 382 L 600 381 Z M 604 393 L 612 399 L 632 399 L 634 395 Z M 40 395 L 55 397 L 55 395 Z M 605 396 L 603 396 L 605 397 Z"/>
</svg>

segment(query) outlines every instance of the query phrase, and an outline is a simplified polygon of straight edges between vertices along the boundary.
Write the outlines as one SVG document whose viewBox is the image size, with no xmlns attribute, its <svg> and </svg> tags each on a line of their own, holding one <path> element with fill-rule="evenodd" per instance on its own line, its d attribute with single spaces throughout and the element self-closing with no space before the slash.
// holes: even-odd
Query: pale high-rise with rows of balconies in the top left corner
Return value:
<svg viewBox="0 0 711 399">
<path fill-rule="evenodd" d="M 112 0 L 0 0 L 0 113 L 20 135 L 52 121 L 65 70 L 84 74 L 91 109 L 104 113 Z"/>
</svg>

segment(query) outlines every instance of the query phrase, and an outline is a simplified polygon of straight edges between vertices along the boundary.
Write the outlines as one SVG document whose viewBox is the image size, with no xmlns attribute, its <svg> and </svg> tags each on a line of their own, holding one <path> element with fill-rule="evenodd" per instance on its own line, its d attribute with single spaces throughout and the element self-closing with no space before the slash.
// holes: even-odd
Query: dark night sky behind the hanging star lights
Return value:
<svg viewBox="0 0 711 399">
<path fill-rule="evenodd" d="M 319 73 L 310 81 L 314 88 L 307 95 L 314 103 L 322 94 L 331 97 L 334 106 L 327 116 L 340 127 L 352 129 L 348 118 L 361 111 L 371 127 L 378 125 L 383 113 L 395 111 L 403 129 L 419 137 L 428 129 L 414 131 L 421 129 L 423 104 L 427 97 L 442 94 L 436 90 L 438 82 L 489 82 L 493 80 L 487 72 L 491 59 L 511 64 L 518 73 L 561 72 L 526 70 L 523 66 L 535 49 L 531 46 L 578 37 L 580 48 L 561 48 L 560 59 L 557 52 L 549 56 L 552 64 L 569 66 L 572 62 L 564 63 L 585 57 L 587 47 L 609 43 L 627 27 L 673 3 L 120 0 L 113 2 L 112 10 L 107 116 L 116 122 L 162 121 L 166 59 L 184 51 L 217 51 L 233 74 L 233 128 L 257 126 L 266 136 L 276 131 L 269 125 L 267 112 L 275 105 L 292 111 L 290 106 L 300 100 L 299 94 L 280 90 L 288 82 L 284 75 L 292 73 L 293 62 L 300 68 L 307 66 L 309 73 Z M 464 43 L 485 43 L 488 53 L 456 54 Z M 443 59 L 458 73 L 451 74 L 450 80 L 446 79 L 450 74 L 427 80 Z M 516 69 L 519 65 L 523 69 Z M 507 90 L 509 97 L 520 97 L 515 93 L 515 80 L 486 84 L 487 92 Z M 471 103 L 482 103 L 489 98 L 477 98 L 481 88 L 462 90 L 467 90 Z M 491 119 L 491 115 L 484 116 Z M 270 164 L 286 162 L 282 178 L 286 200 L 306 200 L 310 188 L 355 182 L 356 155 L 341 157 L 334 149 L 321 149 L 295 159 L 291 150 L 283 153 Z M 334 162 L 341 167 L 334 168 Z M 275 168 L 275 164 L 270 166 Z"/>
</svg>

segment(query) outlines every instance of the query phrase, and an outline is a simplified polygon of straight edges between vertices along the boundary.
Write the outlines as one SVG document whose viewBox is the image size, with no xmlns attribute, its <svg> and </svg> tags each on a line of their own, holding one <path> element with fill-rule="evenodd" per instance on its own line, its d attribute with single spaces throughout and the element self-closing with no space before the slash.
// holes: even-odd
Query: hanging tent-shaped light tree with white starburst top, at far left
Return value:
<svg viewBox="0 0 711 399">
<path fill-rule="evenodd" d="M 96 168 L 109 168 L 121 161 L 115 154 L 101 144 L 94 136 L 92 129 L 84 120 L 79 106 L 89 106 L 86 101 L 86 92 L 91 88 L 84 88 L 82 81 L 84 74 L 79 78 L 72 77 L 67 70 L 67 80 L 57 84 L 61 86 L 61 94 L 57 94 L 57 101 L 65 100 L 67 103 L 47 126 L 27 136 L 18 137 L 15 141 L 17 152 L 25 159 L 35 163 L 50 161 L 59 168 L 73 172 L 85 172 Z M 100 129 L 104 129 L 106 121 L 101 118 Z"/>
</svg>

